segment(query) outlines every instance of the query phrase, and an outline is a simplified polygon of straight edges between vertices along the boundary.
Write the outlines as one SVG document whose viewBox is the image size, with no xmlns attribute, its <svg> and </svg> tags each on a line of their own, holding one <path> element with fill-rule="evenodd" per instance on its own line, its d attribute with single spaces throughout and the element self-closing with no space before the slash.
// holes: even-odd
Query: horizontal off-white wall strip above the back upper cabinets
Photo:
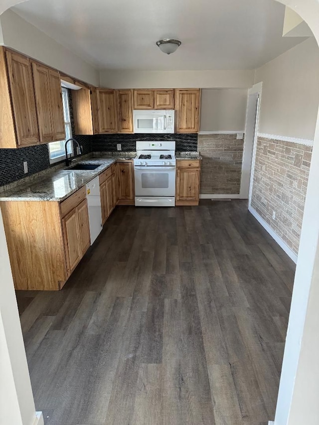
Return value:
<svg viewBox="0 0 319 425">
<path fill-rule="evenodd" d="M 100 72 L 102 87 L 114 89 L 248 88 L 254 71 L 123 71 Z"/>
</svg>

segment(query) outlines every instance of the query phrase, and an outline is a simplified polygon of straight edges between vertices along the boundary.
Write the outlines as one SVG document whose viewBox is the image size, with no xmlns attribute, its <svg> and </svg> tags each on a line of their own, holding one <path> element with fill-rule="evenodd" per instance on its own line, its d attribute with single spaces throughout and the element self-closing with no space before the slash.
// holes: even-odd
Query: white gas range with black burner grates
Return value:
<svg viewBox="0 0 319 425">
<path fill-rule="evenodd" d="M 135 205 L 175 206 L 175 142 L 136 142 Z"/>
</svg>

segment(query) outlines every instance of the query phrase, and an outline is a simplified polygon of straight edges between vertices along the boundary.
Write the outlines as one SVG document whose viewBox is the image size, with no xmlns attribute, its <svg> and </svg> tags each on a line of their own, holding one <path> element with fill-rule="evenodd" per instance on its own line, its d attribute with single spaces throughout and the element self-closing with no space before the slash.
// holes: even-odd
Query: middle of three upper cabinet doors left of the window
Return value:
<svg viewBox="0 0 319 425">
<path fill-rule="evenodd" d="M 36 112 L 41 143 L 54 141 L 49 68 L 32 62 Z"/>
</svg>

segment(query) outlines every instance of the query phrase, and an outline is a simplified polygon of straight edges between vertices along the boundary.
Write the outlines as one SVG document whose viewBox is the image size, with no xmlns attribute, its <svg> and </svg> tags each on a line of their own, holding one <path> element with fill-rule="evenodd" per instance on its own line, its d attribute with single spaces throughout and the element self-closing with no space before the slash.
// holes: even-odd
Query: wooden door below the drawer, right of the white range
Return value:
<svg viewBox="0 0 319 425">
<path fill-rule="evenodd" d="M 177 168 L 176 199 L 197 201 L 199 197 L 199 169 Z"/>
</svg>

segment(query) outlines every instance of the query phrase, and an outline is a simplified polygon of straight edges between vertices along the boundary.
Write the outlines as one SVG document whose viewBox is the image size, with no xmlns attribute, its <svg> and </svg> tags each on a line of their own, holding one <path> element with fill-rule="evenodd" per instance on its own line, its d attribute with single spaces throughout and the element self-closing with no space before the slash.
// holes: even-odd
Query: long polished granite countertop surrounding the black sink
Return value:
<svg viewBox="0 0 319 425">
<path fill-rule="evenodd" d="M 75 163 L 101 164 L 95 170 L 58 169 L 0 193 L 0 201 L 63 201 L 117 161 L 116 158 L 91 157 Z"/>
</svg>

